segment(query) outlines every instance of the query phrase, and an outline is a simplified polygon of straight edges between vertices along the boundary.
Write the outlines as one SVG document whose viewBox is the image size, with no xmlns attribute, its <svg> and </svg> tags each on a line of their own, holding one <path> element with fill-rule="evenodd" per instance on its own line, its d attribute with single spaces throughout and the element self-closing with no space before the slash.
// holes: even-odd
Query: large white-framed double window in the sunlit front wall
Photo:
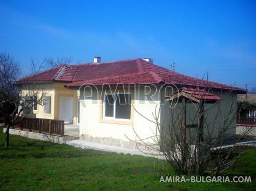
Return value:
<svg viewBox="0 0 256 191">
<path fill-rule="evenodd" d="M 104 118 L 126 120 L 131 119 L 131 95 L 105 95 Z"/>
</svg>

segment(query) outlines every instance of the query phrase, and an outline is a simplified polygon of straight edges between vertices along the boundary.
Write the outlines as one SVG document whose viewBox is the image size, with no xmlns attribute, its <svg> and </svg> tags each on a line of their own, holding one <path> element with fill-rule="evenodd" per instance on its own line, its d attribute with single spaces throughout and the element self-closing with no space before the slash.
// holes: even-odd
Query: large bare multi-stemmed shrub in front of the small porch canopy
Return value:
<svg viewBox="0 0 256 191">
<path fill-rule="evenodd" d="M 171 96 L 172 100 L 180 99 L 180 103 L 165 110 L 169 116 L 165 122 L 160 121 L 162 105 L 155 107 L 152 113 L 154 120 L 140 114 L 134 107 L 142 117 L 155 124 L 155 134 L 142 139 L 141 134 L 133 128 L 136 138 L 127 138 L 135 142 L 142 152 L 145 150 L 140 149 L 141 146 L 151 150 L 147 154 L 161 155 L 179 173 L 204 174 L 210 171 L 219 174 L 242 154 L 238 152 L 234 157 L 234 146 L 252 128 L 248 127 L 240 136 L 229 134 L 236 130 L 236 96 L 232 96 L 232 90 L 221 93 L 220 99 L 214 103 L 207 98 L 210 88 L 197 87 L 196 90 L 197 98 L 199 96 L 197 100 L 192 95 L 185 97 L 181 90 L 176 94 L 178 96 Z M 230 103 L 228 108 L 225 107 L 226 111 L 222 112 L 221 101 L 225 98 Z M 188 104 L 192 105 L 191 111 L 187 111 Z"/>
</svg>

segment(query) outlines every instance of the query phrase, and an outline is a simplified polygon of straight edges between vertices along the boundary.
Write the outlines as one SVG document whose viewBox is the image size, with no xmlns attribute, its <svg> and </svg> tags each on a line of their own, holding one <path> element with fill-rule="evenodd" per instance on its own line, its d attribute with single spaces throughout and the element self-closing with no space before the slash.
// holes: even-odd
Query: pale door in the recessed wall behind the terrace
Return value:
<svg viewBox="0 0 256 191">
<path fill-rule="evenodd" d="M 60 97 L 59 119 L 73 123 L 73 97 Z"/>
</svg>

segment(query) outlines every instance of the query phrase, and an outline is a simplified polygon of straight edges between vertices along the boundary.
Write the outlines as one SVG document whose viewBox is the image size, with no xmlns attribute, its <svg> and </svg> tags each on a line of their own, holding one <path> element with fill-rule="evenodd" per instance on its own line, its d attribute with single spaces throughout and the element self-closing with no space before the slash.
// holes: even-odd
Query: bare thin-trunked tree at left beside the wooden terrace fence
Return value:
<svg viewBox="0 0 256 191">
<path fill-rule="evenodd" d="M 43 105 L 45 91 L 36 88 L 35 84 L 27 85 L 26 91 L 20 91 L 15 84 L 20 77 L 19 63 L 7 53 L 0 54 L 0 76 L 0 113 L 4 115 L 6 125 L 5 146 L 9 147 L 10 127 L 27 117 L 35 105 Z"/>
</svg>

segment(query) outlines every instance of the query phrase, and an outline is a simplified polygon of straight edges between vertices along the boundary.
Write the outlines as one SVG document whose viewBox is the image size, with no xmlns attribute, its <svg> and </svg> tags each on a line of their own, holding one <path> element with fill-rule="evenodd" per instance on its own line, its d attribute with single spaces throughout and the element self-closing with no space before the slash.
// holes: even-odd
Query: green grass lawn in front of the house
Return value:
<svg viewBox="0 0 256 191">
<path fill-rule="evenodd" d="M 175 176 L 151 157 L 110 154 L 65 144 L 10 136 L 0 129 L 0 190 L 254 190 L 256 150 L 250 149 L 225 176 L 252 176 L 252 183 L 159 183 Z"/>
</svg>

